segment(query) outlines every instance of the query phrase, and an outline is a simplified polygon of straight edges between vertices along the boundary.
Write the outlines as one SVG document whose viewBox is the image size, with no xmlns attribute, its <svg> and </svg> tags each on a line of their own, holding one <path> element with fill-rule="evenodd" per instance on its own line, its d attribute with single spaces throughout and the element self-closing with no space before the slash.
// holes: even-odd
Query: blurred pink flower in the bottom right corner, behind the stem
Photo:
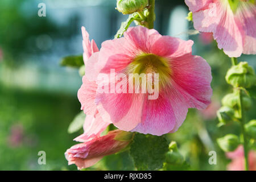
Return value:
<svg viewBox="0 0 256 182">
<path fill-rule="evenodd" d="M 240 145 L 233 152 L 227 152 L 226 156 L 232 159 L 232 162 L 228 165 L 229 171 L 244 171 L 245 170 L 245 157 L 243 155 L 243 146 Z M 251 150 L 249 152 L 249 169 L 250 171 L 256 171 L 256 152 Z"/>
</svg>

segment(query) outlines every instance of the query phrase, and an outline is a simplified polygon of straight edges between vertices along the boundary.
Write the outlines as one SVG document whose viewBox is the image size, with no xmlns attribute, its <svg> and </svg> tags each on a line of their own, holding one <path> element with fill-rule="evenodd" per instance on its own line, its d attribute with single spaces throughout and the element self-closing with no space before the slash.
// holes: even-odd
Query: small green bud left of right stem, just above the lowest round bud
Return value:
<svg viewBox="0 0 256 182">
<path fill-rule="evenodd" d="M 228 106 L 222 106 L 217 111 L 217 117 L 218 117 L 218 121 L 220 121 L 222 124 L 231 122 L 233 121 L 233 117 L 234 117 L 234 109 Z"/>
</svg>

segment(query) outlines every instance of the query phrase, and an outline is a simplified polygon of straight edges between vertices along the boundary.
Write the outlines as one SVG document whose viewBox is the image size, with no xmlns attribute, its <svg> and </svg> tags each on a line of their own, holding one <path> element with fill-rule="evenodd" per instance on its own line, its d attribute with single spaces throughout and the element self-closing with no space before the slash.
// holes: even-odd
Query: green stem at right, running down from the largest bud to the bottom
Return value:
<svg viewBox="0 0 256 182">
<path fill-rule="evenodd" d="M 240 90 L 240 111 L 241 111 L 241 127 L 242 127 L 242 136 L 243 136 L 243 152 L 245 155 L 245 170 L 249 170 L 249 161 L 248 161 L 248 142 L 245 132 L 245 109 L 243 107 L 243 100 L 242 100 L 242 90 Z"/>
</svg>

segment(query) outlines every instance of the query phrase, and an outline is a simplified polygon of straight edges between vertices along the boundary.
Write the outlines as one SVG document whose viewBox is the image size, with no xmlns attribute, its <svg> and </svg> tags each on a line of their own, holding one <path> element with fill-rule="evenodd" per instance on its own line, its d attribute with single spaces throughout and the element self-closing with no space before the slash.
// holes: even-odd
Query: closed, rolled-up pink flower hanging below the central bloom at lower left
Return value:
<svg viewBox="0 0 256 182">
<path fill-rule="evenodd" d="M 109 131 L 103 137 L 72 146 L 65 152 L 65 158 L 69 165 L 76 164 L 78 169 L 87 168 L 96 164 L 105 155 L 115 154 L 125 148 L 132 136 L 132 133 L 126 131 Z"/>
</svg>

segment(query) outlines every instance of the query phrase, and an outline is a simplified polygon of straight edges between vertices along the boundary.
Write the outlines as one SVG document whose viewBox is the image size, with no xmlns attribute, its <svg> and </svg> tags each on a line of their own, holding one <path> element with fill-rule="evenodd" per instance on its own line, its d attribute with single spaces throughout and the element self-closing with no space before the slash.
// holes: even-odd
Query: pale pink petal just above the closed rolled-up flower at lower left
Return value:
<svg viewBox="0 0 256 182">
<path fill-rule="evenodd" d="M 104 131 L 107 126 L 109 126 L 109 123 L 104 122 L 99 113 L 97 113 L 95 117 L 94 115 L 86 115 L 84 133 L 74 140 L 77 142 L 86 142 L 93 138 L 100 137 L 102 131 Z"/>
</svg>

